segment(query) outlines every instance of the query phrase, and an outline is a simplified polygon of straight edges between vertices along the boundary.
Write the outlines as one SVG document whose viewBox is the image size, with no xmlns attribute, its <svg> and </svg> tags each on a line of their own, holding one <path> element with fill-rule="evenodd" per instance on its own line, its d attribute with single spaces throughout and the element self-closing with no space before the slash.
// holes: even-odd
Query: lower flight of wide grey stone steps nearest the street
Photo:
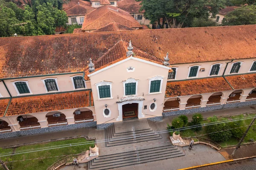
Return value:
<svg viewBox="0 0 256 170">
<path fill-rule="evenodd" d="M 184 156 L 179 146 L 171 143 L 134 147 L 132 151 L 99 156 L 88 162 L 88 170 L 107 170 L 151 161 L 159 161 L 178 156 Z"/>
</svg>

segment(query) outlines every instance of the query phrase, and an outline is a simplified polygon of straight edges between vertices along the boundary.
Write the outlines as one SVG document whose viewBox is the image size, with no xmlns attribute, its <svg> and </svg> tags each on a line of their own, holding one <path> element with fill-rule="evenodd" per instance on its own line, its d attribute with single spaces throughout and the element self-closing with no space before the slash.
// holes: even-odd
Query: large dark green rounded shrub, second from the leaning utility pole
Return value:
<svg viewBox="0 0 256 170">
<path fill-rule="evenodd" d="M 208 120 L 210 122 L 216 122 L 218 121 L 218 118 L 214 115 L 213 117 L 209 117 Z M 224 119 L 222 119 L 221 121 L 223 121 Z M 219 123 L 219 124 L 213 124 L 213 125 L 209 125 L 206 126 L 206 132 L 207 133 L 211 133 L 209 134 L 209 137 L 213 140 L 213 141 L 227 141 L 232 137 L 232 133 L 230 130 L 230 127 L 228 126 L 227 123 Z M 225 131 L 222 131 L 225 130 Z M 220 132 L 222 131 L 222 132 Z M 215 133 L 218 132 L 218 133 Z"/>
</svg>

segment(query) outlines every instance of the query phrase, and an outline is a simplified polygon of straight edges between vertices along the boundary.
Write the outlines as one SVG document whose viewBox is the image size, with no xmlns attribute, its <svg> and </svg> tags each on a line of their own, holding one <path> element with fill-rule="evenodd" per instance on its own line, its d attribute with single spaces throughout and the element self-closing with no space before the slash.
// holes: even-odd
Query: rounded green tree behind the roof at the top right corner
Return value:
<svg viewBox="0 0 256 170">
<path fill-rule="evenodd" d="M 242 6 L 225 16 L 222 20 L 223 26 L 238 26 L 256 24 L 256 6 Z"/>
</svg>

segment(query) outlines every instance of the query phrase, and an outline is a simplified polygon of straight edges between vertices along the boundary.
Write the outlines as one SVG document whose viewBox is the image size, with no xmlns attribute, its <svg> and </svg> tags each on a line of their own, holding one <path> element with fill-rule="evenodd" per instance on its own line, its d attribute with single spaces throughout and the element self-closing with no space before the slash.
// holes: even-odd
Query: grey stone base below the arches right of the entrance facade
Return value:
<svg viewBox="0 0 256 170">
<path fill-rule="evenodd" d="M 163 117 L 173 116 L 173 115 L 185 115 L 185 114 L 197 113 L 197 112 L 207 112 L 212 110 L 228 109 L 233 107 L 244 107 L 244 106 L 250 106 L 255 104 L 256 104 L 256 101 L 244 101 L 244 102 L 236 102 L 236 103 L 229 103 L 229 104 L 219 104 L 219 105 L 213 105 L 213 106 L 207 106 L 207 107 L 198 107 L 194 109 L 163 112 Z"/>
</svg>

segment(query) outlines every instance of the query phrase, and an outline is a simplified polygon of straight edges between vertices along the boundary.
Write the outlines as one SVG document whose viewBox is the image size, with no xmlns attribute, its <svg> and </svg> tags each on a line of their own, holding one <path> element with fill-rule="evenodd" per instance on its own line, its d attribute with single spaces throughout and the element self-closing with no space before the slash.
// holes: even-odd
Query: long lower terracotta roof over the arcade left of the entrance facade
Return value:
<svg viewBox="0 0 256 170">
<path fill-rule="evenodd" d="M 5 116 L 51 112 L 93 106 L 90 90 L 12 98 Z"/>
</svg>

